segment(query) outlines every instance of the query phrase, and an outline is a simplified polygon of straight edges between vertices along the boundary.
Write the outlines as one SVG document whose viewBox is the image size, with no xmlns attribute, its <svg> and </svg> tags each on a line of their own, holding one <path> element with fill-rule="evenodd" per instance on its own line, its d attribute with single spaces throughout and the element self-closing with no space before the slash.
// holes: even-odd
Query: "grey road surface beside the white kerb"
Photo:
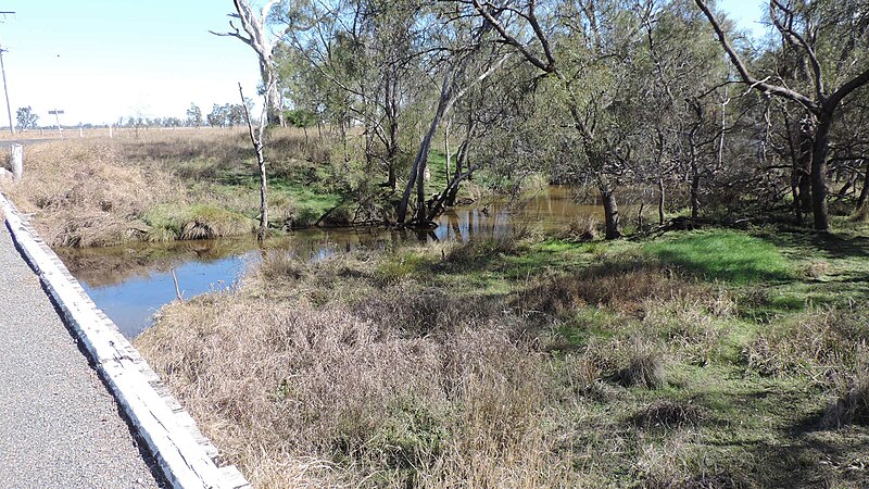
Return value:
<svg viewBox="0 0 869 489">
<path fill-rule="evenodd" d="M 114 398 L 0 220 L 0 488 L 156 488 Z"/>
</svg>

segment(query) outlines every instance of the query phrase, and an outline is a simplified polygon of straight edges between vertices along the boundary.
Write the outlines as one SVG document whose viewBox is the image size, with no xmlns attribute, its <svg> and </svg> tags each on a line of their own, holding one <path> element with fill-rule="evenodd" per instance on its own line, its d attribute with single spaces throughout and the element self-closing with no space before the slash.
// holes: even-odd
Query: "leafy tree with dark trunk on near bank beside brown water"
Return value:
<svg viewBox="0 0 869 489">
<path fill-rule="evenodd" d="M 457 1 L 473 5 L 538 70 L 541 87 L 557 102 L 553 129 L 570 133 L 571 156 L 600 191 L 606 238 L 620 237 L 616 189 L 630 177 L 635 114 L 646 103 L 637 91 L 644 76 L 634 58 L 643 42 L 637 2 Z"/>
</svg>

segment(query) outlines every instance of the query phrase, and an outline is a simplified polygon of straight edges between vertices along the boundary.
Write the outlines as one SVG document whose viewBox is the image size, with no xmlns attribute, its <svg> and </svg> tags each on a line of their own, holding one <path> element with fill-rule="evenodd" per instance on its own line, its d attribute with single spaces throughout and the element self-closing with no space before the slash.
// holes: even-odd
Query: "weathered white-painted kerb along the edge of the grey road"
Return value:
<svg viewBox="0 0 869 489">
<path fill-rule="evenodd" d="M 193 418 L 117 326 L 93 304 L 27 220 L 0 193 L 0 218 L 3 217 L 16 248 L 85 347 L 166 480 L 175 488 L 249 488 L 238 468 L 221 466 L 217 449 L 202 436 Z"/>
</svg>

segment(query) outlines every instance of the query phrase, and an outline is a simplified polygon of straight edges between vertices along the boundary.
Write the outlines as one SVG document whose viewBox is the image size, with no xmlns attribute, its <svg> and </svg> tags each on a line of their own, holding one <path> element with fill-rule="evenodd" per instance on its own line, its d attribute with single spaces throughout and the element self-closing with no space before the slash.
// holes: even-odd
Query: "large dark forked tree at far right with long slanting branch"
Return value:
<svg viewBox="0 0 869 489">
<path fill-rule="evenodd" d="M 799 78 L 777 70 L 755 71 L 733 47 L 705 0 L 707 17 L 740 79 L 752 89 L 782 97 L 806 112 L 811 140 L 810 184 L 815 229 L 828 231 L 828 156 L 833 124 L 843 101 L 869 84 L 869 4 L 861 0 L 770 0 L 769 17 L 782 39 L 782 54 L 796 60 Z"/>
</svg>

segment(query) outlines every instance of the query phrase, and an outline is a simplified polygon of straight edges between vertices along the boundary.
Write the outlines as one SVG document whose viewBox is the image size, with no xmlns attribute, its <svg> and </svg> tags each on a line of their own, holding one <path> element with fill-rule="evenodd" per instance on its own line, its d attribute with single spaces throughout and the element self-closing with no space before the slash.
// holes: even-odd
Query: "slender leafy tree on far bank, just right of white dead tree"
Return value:
<svg viewBox="0 0 869 489">
<path fill-rule="evenodd" d="M 350 117 L 362 122 L 366 166 L 379 162 L 391 189 L 404 152 L 404 112 L 423 91 L 425 64 L 437 51 L 428 42 L 437 26 L 424 21 L 427 11 L 417 0 L 314 2 L 303 9 L 310 30 L 290 37 L 299 76 L 325 82 L 315 86 L 331 93 L 324 99 L 340 114 L 339 126 Z M 303 85 L 294 84 L 294 99 L 304 99 Z"/>
</svg>

